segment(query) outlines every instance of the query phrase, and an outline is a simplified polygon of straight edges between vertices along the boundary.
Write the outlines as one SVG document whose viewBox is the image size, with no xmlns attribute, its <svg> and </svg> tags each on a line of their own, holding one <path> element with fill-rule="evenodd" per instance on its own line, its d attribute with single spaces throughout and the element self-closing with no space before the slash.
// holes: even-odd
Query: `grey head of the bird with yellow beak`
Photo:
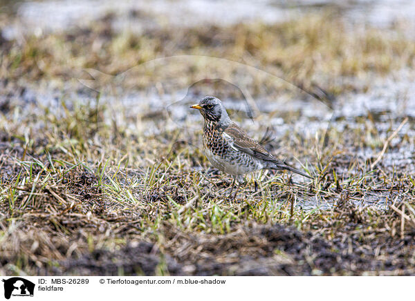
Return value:
<svg viewBox="0 0 415 301">
<path fill-rule="evenodd" d="M 199 104 L 194 104 L 190 108 L 198 109 L 205 119 L 212 122 L 219 122 L 219 124 L 224 125 L 230 122 L 228 113 L 226 113 L 225 108 L 222 106 L 222 101 L 216 97 L 207 96 Z"/>
</svg>

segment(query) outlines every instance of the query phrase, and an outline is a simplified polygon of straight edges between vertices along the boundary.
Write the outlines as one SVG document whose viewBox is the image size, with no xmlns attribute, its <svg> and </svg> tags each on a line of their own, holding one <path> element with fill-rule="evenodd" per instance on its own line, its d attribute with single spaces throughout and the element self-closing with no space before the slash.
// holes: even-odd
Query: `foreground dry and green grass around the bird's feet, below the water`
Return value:
<svg viewBox="0 0 415 301">
<path fill-rule="evenodd" d="M 413 273 L 413 177 L 382 164 L 370 171 L 335 133 L 310 162 L 313 183 L 264 173 L 257 191 L 250 180 L 230 200 L 231 179 L 199 148 L 165 144 L 175 131 L 142 143 L 123 137 L 115 150 L 115 137 L 96 145 L 99 133 L 73 127 L 89 116 L 84 107 L 68 114 L 44 115 L 48 127 L 27 139 L 5 126 L 17 131 L 1 143 L 3 274 Z M 302 208 L 310 202 L 321 205 Z"/>
</svg>

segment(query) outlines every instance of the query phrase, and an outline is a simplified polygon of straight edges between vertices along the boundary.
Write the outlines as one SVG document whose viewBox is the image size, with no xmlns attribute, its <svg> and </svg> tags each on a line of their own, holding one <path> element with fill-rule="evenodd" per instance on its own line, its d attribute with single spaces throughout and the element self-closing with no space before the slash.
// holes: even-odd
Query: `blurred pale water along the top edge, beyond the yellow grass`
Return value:
<svg viewBox="0 0 415 301">
<path fill-rule="evenodd" d="M 109 13 L 116 15 L 112 20 L 113 30 L 132 32 L 167 25 L 228 26 L 249 21 L 278 23 L 326 7 L 342 14 L 350 26 L 369 24 L 388 28 L 396 22 L 407 21 L 407 26 L 413 28 L 415 19 L 415 2 L 411 0 L 301 0 L 290 3 L 261 0 L 256 1 L 255 5 L 252 5 L 252 1 L 242 0 L 237 6 L 230 0 L 119 0 L 116 3 L 109 0 L 50 0 L 24 1 L 15 4 L 15 7 L 20 24 L 3 28 L 3 37 L 6 39 L 14 39 L 20 33 L 42 35 L 44 32 L 87 26 Z"/>
</svg>

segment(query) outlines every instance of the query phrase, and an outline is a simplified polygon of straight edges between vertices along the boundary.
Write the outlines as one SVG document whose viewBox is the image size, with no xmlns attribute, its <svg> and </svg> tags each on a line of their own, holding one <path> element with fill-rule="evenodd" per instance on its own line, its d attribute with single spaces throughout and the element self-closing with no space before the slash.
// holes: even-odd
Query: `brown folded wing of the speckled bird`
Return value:
<svg viewBox="0 0 415 301">
<path fill-rule="evenodd" d="M 237 126 L 237 124 L 230 124 L 228 128 L 225 128 L 223 133 L 230 137 L 230 143 L 234 148 L 258 159 L 279 162 L 279 160 L 271 155 L 264 146 L 261 146 L 257 141 L 251 139 L 243 129 Z"/>
</svg>

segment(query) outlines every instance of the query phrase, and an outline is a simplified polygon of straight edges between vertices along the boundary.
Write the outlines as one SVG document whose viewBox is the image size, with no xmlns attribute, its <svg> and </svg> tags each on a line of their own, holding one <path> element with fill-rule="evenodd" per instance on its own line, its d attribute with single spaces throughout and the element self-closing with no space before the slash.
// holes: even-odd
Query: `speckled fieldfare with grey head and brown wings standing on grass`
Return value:
<svg viewBox="0 0 415 301">
<path fill-rule="evenodd" d="M 206 96 L 190 108 L 199 110 L 205 119 L 202 140 L 206 157 L 215 168 L 232 175 L 232 188 L 235 180 L 241 184 L 243 175 L 261 169 L 286 170 L 313 179 L 277 159 L 259 142 L 249 137 L 245 130 L 232 122 L 222 101 L 217 97 Z"/>
</svg>

